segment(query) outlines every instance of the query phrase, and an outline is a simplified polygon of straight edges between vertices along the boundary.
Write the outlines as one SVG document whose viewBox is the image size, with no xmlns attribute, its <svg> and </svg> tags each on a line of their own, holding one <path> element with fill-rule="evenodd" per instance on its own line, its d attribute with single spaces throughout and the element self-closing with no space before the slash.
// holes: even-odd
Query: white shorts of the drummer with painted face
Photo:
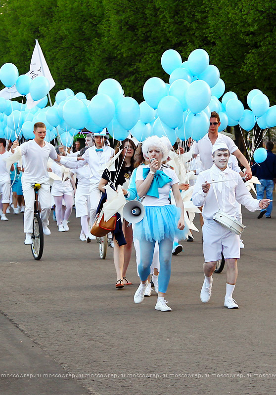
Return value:
<svg viewBox="0 0 276 395">
<path fill-rule="evenodd" d="M 221 259 L 239 258 L 239 236 L 219 225 L 213 219 L 204 219 L 202 227 L 203 254 L 205 262 L 215 262 Z"/>
</svg>

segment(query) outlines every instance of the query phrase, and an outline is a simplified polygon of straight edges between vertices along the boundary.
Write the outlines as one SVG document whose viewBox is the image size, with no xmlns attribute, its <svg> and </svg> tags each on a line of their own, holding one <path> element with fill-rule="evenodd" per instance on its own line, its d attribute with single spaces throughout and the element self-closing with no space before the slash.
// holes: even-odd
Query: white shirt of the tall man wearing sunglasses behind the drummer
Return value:
<svg viewBox="0 0 276 395">
<path fill-rule="evenodd" d="M 235 145 L 233 140 L 230 139 L 230 137 L 219 133 L 216 143 L 218 143 L 220 140 L 224 141 L 227 144 L 230 154 L 232 154 L 233 152 L 238 150 L 237 146 Z M 193 142 L 191 149 L 194 154 L 196 154 L 196 155 L 200 154 L 200 160 L 202 162 L 202 170 L 207 170 L 207 169 L 210 169 L 210 167 L 212 167 L 212 165 L 213 165 L 213 158 L 212 158 L 213 144 L 212 144 L 211 140 L 209 139 L 208 133 L 205 134 L 205 136 L 202 137 L 202 139 L 200 139 L 199 141 Z"/>
</svg>

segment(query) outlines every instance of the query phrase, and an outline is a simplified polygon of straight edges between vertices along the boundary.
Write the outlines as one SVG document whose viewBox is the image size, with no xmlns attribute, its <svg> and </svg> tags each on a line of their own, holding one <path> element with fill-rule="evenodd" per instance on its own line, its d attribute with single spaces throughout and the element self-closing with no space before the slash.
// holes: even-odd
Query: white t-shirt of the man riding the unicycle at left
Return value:
<svg viewBox="0 0 276 395">
<path fill-rule="evenodd" d="M 38 183 L 48 182 L 48 158 L 57 158 L 54 146 L 45 141 L 45 146 L 41 147 L 35 142 L 35 140 L 30 140 L 21 144 L 20 150 L 24 159 L 24 173 L 22 175 L 22 181 Z"/>
</svg>

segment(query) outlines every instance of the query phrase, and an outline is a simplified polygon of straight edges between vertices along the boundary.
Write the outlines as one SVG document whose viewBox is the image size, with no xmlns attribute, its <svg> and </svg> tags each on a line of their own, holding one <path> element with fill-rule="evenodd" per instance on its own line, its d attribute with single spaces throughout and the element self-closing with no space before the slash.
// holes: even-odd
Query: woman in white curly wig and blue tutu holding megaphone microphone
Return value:
<svg viewBox="0 0 276 395">
<path fill-rule="evenodd" d="M 143 219 L 135 226 L 134 237 L 140 242 L 140 263 L 138 272 L 140 285 L 134 295 L 134 302 L 144 299 L 147 277 L 155 243 L 159 244 L 159 289 L 156 310 L 171 311 L 165 301 L 170 276 L 174 237 L 184 236 L 184 204 L 179 191 L 179 179 L 170 167 L 162 164 L 169 156 L 168 140 L 164 137 L 148 137 L 142 143 L 142 152 L 149 159 L 149 164 L 139 166 L 136 173 L 136 187 L 139 197 L 145 196 L 142 204 L 145 208 Z M 170 204 L 169 194 L 172 190 L 176 206 Z"/>
</svg>

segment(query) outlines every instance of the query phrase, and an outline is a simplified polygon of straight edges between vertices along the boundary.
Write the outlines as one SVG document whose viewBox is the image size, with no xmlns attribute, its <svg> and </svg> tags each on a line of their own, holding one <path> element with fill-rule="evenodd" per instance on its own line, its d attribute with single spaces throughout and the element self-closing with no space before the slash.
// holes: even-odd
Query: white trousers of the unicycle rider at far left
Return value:
<svg viewBox="0 0 276 395">
<path fill-rule="evenodd" d="M 33 218 L 34 218 L 34 202 L 35 202 L 35 191 L 32 187 L 31 182 L 22 181 L 22 190 L 25 200 L 25 212 L 24 212 L 24 232 L 33 232 Z M 51 212 L 51 193 L 50 184 L 41 184 L 38 191 L 39 202 L 41 206 L 41 220 L 42 225 L 49 225 L 49 215 Z"/>
</svg>

